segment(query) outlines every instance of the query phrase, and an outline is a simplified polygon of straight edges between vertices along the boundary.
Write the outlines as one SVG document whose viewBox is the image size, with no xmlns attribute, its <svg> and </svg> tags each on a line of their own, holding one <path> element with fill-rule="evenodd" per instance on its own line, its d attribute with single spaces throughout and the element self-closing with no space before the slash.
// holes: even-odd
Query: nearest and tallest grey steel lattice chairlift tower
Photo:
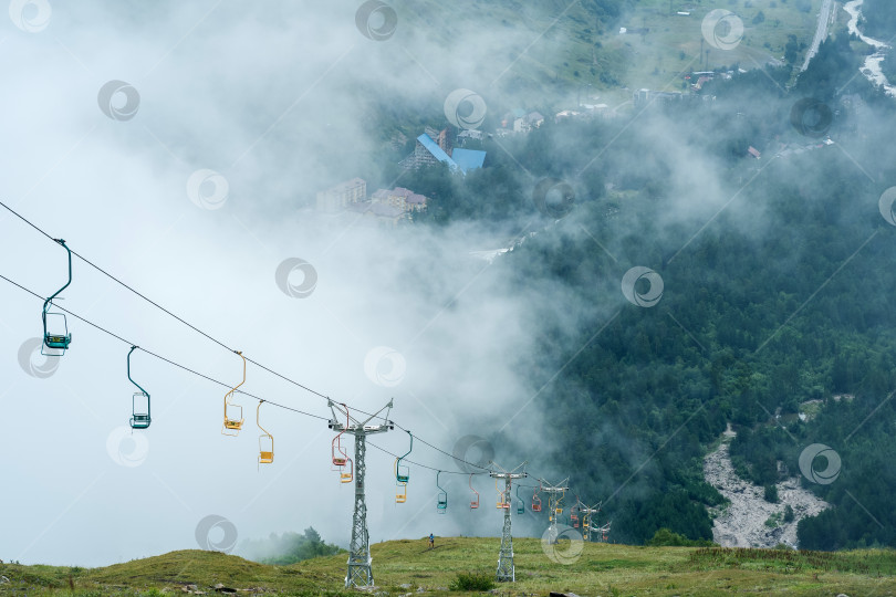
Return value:
<svg viewBox="0 0 896 597">
<path fill-rule="evenodd" d="M 371 537 L 367 533 L 367 503 L 364 500 L 364 454 L 367 451 L 367 436 L 395 429 L 395 423 L 389 420 L 392 400 L 365 420 L 352 417 L 345 405 L 337 405 L 332 400 L 329 400 L 329 404 L 330 410 L 333 412 L 333 419 L 327 423 L 330 429 L 355 437 L 355 511 L 352 515 L 352 544 L 348 547 L 348 572 L 345 575 L 345 586 L 373 586 Z M 372 425 L 371 421 L 379 419 L 378 415 L 384 410 L 386 413 L 383 415 L 382 422 Z"/>
</svg>

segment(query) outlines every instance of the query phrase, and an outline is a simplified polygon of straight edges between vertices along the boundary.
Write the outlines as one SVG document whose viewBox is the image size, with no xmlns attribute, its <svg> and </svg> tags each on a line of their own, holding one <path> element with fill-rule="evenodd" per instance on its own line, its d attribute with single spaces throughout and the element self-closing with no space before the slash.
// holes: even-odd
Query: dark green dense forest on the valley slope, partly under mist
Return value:
<svg viewBox="0 0 896 597">
<path fill-rule="evenodd" d="M 405 177 L 433 199 L 429 226 L 536 232 L 494 265 L 520 292 L 570 296 L 544 305 L 543 354 L 520 365 L 545 385 L 553 449 L 519 453 L 575 471 L 615 541 L 711 538 L 706 506 L 722 498 L 701 463 L 730 423 L 732 461 L 757 484 L 799 474 L 812 443 L 842 458 L 835 482 L 803 479 L 833 507 L 801 522 L 802 547 L 896 545 L 896 230 L 878 212 L 896 186 L 896 104 L 856 76 L 863 51 L 841 34 L 790 85 L 791 65 L 732 65 L 696 101 L 548 121 L 486 140 L 487 168 L 467 177 Z M 565 217 L 533 201 L 545 178 L 574 191 Z M 635 265 L 664 281 L 654 308 L 619 291 Z"/>
</svg>

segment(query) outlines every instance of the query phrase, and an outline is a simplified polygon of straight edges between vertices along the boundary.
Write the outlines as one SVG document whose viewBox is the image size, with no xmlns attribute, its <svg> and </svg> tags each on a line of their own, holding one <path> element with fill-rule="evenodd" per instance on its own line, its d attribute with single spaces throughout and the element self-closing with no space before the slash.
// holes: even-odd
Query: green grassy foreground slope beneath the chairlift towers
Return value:
<svg viewBox="0 0 896 597">
<path fill-rule="evenodd" d="M 493 574 L 498 538 L 395 541 L 372 547 L 378 591 L 388 595 L 447 594 L 457 573 Z M 561 555 L 566 546 L 561 544 Z M 539 540 L 514 541 L 517 583 L 499 586 L 503 595 L 894 595 L 896 552 L 866 549 L 837 554 L 761 549 L 633 547 L 585 544 L 577 562 L 553 563 Z M 157 557 L 81 569 L 0 565 L 0 594 L 159 595 L 183 587 L 213 593 L 217 584 L 256 594 L 340 595 L 345 555 L 291 566 L 265 566 L 212 552 L 183 551 Z M 241 591 L 242 593 L 242 591 Z M 460 591 L 450 591 L 462 595 Z"/>
</svg>

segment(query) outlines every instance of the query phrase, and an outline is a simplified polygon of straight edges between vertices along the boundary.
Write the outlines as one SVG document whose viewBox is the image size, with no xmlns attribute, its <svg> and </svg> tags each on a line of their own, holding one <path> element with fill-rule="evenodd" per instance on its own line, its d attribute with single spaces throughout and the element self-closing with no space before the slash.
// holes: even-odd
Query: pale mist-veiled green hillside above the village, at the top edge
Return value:
<svg viewBox="0 0 896 597">
<path fill-rule="evenodd" d="M 572 3 L 458 0 L 447 6 L 427 0 L 397 7 L 410 28 L 426 32 L 427 44 L 454 48 L 466 31 L 519 33 L 522 46 L 483 56 L 482 62 L 488 72 L 489 66 L 500 71 L 510 65 L 500 87 L 521 104 L 527 101 L 569 104 L 584 90 L 583 102 L 590 97 L 592 102 L 617 105 L 631 100 L 633 88 L 680 90 L 684 81 L 679 73 L 733 64 L 756 69 L 772 61 L 782 63 L 789 35 L 805 46 L 811 43 L 821 3 L 822 0 Z M 742 41 L 731 50 L 701 45 L 702 19 L 718 8 L 737 14 L 744 27 Z M 621 28 L 628 33 L 621 35 Z M 802 64 L 805 46 L 801 46 L 794 63 Z M 413 53 L 414 48 L 409 51 Z"/>
</svg>

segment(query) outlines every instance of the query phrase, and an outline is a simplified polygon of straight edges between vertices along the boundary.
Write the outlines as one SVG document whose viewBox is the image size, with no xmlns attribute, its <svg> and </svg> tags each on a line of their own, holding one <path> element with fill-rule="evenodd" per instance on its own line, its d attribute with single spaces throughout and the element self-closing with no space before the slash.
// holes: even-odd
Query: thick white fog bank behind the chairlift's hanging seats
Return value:
<svg viewBox="0 0 896 597">
<path fill-rule="evenodd" d="M 367 39 L 358 6 L 13 1 L 0 24 L 0 198 L 247 356 L 361 408 L 394 397 L 396 421 L 450 451 L 534 394 L 512 368 L 532 348 L 532 297 L 511 294 L 499 270 L 468 255 L 498 247 L 487 232 L 397 234 L 308 209 L 378 143 L 363 133 L 361 82 L 404 97 L 444 85 L 445 96 L 478 62 L 425 43 L 411 54 L 407 44 L 426 33 L 400 22 L 394 39 Z M 517 42 L 488 36 L 521 51 Z M 507 65 L 491 64 L 489 75 Z M 0 252 L 0 273 L 41 295 L 64 282 L 65 252 L 7 212 Z M 275 283 L 290 258 L 316 271 L 305 297 Z M 241 378 L 239 357 L 79 260 L 63 296 L 128 342 L 216 379 Z M 34 377 L 20 352 L 27 359 L 22 346 L 41 333 L 41 301 L 3 282 L 0 304 L 0 558 L 103 565 L 195 548 L 197 524 L 211 514 L 240 540 L 313 525 L 347 545 L 352 489 L 330 470 L 324 421 L 265 406 L 275 462 L 258 471 L 254 400 L 237 399 L 244 430 L 225 438 L 226 388 L 136 352 L 133 375 L 153 397 L 153 423 L 132 436 L 128 345 L 70 317 L 71 350 L 49 377 Z M 388 356 L 375 360 L 388 353 L 378 347 L 399 355 L 394 374 Z M 365 375 L 365 358 L 367 373 L 396 384 Z M 31 363 L 53 365 L 39 355 Z M 243 389 L 329 416 L 324 400 L 251 365 Z M 407 437 L 373 441 L 404 451 Z M 456 470 L 431 450 L 415 455 Z M 452 516 L 435 515 L 435 474 L 420 469 L 396 506 L 392 463 L 369 450 L 372 541 L 472 532 L 476 521 L 489 533 L 488 516 L 499 532 L 494 507 L 478 519 L 460 507 L 466 478 L 449 480 Z M 493 483 L 477 484 L 489 504 Z"/>
</svg>

